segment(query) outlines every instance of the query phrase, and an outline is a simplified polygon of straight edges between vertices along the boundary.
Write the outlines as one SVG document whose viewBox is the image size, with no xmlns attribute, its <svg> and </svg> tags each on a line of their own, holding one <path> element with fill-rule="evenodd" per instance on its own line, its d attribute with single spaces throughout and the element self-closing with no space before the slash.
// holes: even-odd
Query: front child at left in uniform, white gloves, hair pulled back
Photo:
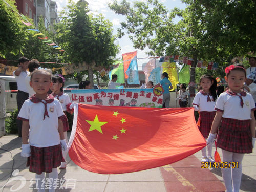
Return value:
<svg viewBox="0 0 256 192">
<path fill-rule="evenodd" d="M 55 191 L 53 181 L 58 178 L 57 167 L 65 161 L 61 147 L 67 149 L 61 121 L 64 113 L 60 102 L 47 94 L 52 86 L 49 72 L 33 71 L 30 86 L 36 94 L 24 102 L 17 117 L 23 121 L 21 155 L 28 157 L 27 166 L 30 172 L 36 173 L 38 191 L 45 191 L 45 173 L 49 173 L 49 191 Z"/>
</svg>

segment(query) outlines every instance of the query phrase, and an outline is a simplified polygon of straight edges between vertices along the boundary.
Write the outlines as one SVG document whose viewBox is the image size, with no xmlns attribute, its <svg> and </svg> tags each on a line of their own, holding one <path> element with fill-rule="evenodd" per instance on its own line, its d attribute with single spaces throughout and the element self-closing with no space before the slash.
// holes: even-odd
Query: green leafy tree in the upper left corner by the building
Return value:
<svg viewBox="0 0 256 192">
<path fill-rule="evenodd" d="M 27 39 L 25 26 L 20 22 L 14 0 L 0 0 L 0 56 L 18 55 Z"/>
</svg>

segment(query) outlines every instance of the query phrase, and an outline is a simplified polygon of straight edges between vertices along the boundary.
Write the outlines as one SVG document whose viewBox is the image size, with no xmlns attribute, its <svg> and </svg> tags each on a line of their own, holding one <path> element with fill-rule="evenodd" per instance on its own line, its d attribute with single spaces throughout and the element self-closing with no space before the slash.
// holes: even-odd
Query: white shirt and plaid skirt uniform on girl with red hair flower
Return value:
<svg viewBox="0 0 256 192">
<path fill-rule="evenodd" d="M 252 95 L 242 91 L 220 94 L 217 111 L 223 112 L 217 146 L 234 153 L 252 153 L 251 111 L 255 110 Z"/>
</svg>

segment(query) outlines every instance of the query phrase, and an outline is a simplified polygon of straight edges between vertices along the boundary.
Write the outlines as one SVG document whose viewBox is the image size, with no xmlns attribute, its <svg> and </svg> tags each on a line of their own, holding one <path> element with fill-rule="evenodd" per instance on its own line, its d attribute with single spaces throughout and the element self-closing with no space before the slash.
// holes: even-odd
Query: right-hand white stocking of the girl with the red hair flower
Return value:
<svg viewBox="0 0 256 192">
<path fill-rule="evenodd" d="M 233 192 L 239 192 L 239 189 L 240 189 L 243 157 L 244 157 L 243 153 L 233 153 L 232 162 L 238 162 L 238 168 L 237 168 L 237 163 L 235 164 L 236 167 L 232 168 Z"/>
</svg>

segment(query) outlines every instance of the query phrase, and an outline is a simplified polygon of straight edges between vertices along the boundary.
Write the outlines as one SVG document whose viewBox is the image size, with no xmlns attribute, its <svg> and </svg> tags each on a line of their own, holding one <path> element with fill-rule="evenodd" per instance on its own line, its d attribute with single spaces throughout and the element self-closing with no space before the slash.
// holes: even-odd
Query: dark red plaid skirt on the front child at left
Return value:
<svg viewBox="0 0 256 192">
<path fill-rule="evenodd" d="M 53 168 L 57 168 L 61 162 L 65 162 L 60 144 L 48 147 L 30 146 L 30 148 L 31 156 L 28 157 L 27 161 L 30 172 L 36 174 L 51 173 Z"/>
</svg>

